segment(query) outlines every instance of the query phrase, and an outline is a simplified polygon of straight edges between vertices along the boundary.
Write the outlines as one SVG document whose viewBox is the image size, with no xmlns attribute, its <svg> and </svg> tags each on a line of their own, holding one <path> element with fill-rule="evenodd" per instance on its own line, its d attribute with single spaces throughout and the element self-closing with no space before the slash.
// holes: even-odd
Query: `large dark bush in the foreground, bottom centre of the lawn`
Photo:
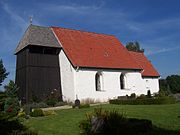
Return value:
<svg viewBox="0 0 180 135">
<path fill-rule="evenodd" d="M 81 134 L 85 135 L 130 135 L 146 133 L 152 129 L 150 120 L 127 118 L 117 111 L 103 111 L 97 108 L 86 114 L 86 120 L 80 122 Z"/>
</svg>

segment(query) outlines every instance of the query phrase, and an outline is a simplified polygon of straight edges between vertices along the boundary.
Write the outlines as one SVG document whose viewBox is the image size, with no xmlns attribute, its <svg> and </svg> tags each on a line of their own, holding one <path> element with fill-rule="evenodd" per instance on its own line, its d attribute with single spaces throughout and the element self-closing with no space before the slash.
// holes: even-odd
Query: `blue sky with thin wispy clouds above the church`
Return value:
<svg viewBox="0 0 180 135">
<path fill-rule="evenodd" d="M 179 0 L 0 0 L 0 58 L 15 78 L 14 50 L 29 25 L 60 26 L 138 41 L 164 78 L 180 74 Z"/>
</svg>

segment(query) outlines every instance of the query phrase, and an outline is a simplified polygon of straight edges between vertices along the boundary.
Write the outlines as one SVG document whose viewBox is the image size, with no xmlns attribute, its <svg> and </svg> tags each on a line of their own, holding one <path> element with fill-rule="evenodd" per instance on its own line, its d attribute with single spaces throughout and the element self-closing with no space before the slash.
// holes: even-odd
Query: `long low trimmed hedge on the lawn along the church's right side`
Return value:
<svg viewBox="0 0 180 135">
<path fill-rule="evenodd" d="M 174 97 L 157 97 L 157 98 L 144 98 L 144 99 L 127 99 L 119 100 L 112 99 L 109 100 L 110 104 L 121 104 L 121 105 L 152 105 L 152 104 L 174 104 L 176 99 Z"/>
</svg>

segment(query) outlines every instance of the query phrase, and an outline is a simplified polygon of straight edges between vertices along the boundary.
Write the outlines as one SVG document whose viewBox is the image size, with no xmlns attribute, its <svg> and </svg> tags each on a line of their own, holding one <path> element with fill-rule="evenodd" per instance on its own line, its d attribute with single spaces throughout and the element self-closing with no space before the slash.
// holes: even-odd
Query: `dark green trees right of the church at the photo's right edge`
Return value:
<svg viewBox="0 0 180 135">
<path fill-rule="evenodd" d="M 159 80 L 160 91 L 165 93 L 180 93 L 180 75 L 171 75 Z"/>
</svg>

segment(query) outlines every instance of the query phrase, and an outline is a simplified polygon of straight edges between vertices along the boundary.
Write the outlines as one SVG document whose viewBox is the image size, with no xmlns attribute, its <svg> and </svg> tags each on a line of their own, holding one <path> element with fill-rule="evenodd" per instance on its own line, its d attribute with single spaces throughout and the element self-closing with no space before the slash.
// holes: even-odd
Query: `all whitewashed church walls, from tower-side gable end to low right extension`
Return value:
<svg viewBox="0 0 180 135">
<path fill-rule="evenodd" d="M 108 99 L 130 95 L 131 93 L 136 93 L 136 95 L 147 94 L 149 89 L 152 90 L 151 93 L 159 91 L 158 79 L 142 79 L 140 72 L 108 69 L 74 69 L 63 51 L 61 51 L 59 59 L 63 100 L 74 101 L 77 96 L 80 100 L 91 98 L 104 102 L 108 101 Z M 95 74 L 98 71 L 102 73 L 102 91 L 96 91 L 95 87 Z M 124 90 L 120 88 L 120 75 L 122 72 L 126 72 Z"/>
</svg>

